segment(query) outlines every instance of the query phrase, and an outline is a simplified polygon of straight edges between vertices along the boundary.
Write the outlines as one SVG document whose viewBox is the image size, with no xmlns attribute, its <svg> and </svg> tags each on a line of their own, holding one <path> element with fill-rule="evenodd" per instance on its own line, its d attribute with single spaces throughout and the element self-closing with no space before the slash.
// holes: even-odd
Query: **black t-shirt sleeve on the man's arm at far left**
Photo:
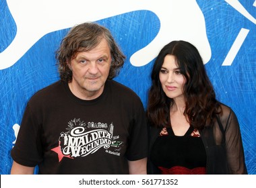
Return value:
<svg viewBox="0 0 256 188">
<path fill-rule="evenodd" d="M 18 138 L 11 150 L 11 157 L 19 164 L 35 167 L 42 158 L 40 146 L 40 125 L 28 104 L 24 111 Z"/>
</svg>

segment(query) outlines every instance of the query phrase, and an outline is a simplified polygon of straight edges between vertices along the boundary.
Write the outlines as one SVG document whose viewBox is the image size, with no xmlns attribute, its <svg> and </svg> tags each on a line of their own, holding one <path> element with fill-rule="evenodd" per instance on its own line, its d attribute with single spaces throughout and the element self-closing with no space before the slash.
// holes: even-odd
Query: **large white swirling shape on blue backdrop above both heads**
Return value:
<svg viewBox="0 0 256 188">
<path fill-rule="evenodd" d="M 15 64 L 42 36 L 50 32 L 71 28 L 84 21 L 97 21 L 139 10 L 154 12 L 160 19 L 160 30 L 150 44 L 131 56 L 133 66 L 148 64 L 171 40 L 187 40 L 194 44 L 204 63 L 211 57 L 205 19 L 195 0 L 7 0 L 7 5 L 17 25 L 17 34 L 0 54 L 0 69 Z"/>
</svg>

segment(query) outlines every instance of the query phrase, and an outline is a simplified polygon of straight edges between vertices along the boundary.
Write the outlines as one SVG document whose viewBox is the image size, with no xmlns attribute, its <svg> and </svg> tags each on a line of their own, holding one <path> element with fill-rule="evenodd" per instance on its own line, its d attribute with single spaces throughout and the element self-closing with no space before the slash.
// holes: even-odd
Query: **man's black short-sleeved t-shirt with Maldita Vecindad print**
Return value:
<svg viewBox="0 0 256 188">
<path fill-rule="evenodd" d="M 128 174 L 127 160 L 147 156 L 141 100 L 106 81 L 102 95 L 86 101 L 58 81 L 28 102 L 11 156 L 40 174 Z"/>
</svg>

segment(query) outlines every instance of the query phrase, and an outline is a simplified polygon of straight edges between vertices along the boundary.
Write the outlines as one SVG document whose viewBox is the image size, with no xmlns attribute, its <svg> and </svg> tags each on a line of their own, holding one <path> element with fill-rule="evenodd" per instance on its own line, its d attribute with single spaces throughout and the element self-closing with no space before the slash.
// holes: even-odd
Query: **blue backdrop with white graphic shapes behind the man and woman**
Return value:
<svg viewBox="0 0 256 188">
<path fill-rule="evenodd" d="M 181 9 L 178 1 L 183 3 L 184 9 L 171 15 L 169 12 L 175 11 L 172 7 L 177 5 Z M 64 11 L 69 14 L 67 17 L 59 17 L 57 12 L 63 12 L 61 9 L 68 7 L 64 3 L 62 7 L 62 1 L 18 2 L 0 1 L 0 174 L 10 172 L 10 150 L 15 144 L 28 99 L 38 89 L 59 79 L 55 50 L 69 28 L 82 21 L 96 21 L 113 33 L 127 56 L 125 66 L 115 80 L 133 89 L 145 107 L 150 71 L 160 48 L 172 39 L 205 44 L 208 48 L 201 46 L 199 51 L 205 59 L 207 73 L 218 99 L 232 107 L 238 117 L 247 169 L 249 174 L 256 174 L 255 0 L 190 0 L 194 7 L 181 0 L 149 0 L 146 3 L 122 1 L 122 4 L 112 0 L 107 1 L 108 7 L 102 5 L 107 11 L 101 11 L 97 6 L 98 3 L 106 3 L 104 1 L 70 1 L 70 6 L 84 3 L 76 6 L 84 6 L 85 15 L 86 11 L 92 10 L 92 13 L 82 18 L 75 12 L 72 14 L 67 11 Z M 43 11 L 40 15 L 36 15 L 38 11 L 31 11 L 37 8 L 37 4 L 32 2 L 41 3 L 39 10 Z M 183 17 L 177 15 L 179 12 L 182 12 Z M 198 15 L 191 22 L 194 15 L 191 13 L 196 12 Z M 168 20 L 164 25 L 166 17 Z M 183 26 L 188 27 L 179 30 Z M 195 29 L 205 34 L 206 42 L 203 35 L 196 36 L 198 32 Z M 173 32 L 176 30 L 177 33 Z M 174 37 L 169 37 L 171 35 Z M 150 44 L 152 46 L 146 50 L 147 53 L 137 55 L 141 58 L 133 58 L 136 52 Z"/>
</svg>

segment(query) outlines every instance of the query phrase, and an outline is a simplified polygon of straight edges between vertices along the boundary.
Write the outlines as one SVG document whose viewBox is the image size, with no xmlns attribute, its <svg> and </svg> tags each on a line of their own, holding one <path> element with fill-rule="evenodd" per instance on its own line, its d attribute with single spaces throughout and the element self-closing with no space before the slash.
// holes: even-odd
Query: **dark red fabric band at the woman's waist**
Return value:
<svg viewBox="0 0 256 188">
<path fill-rule="evenodd" d="M 161 170 L 162 175 L 205 175 L 205 167 L 197 167 L 194 169 L 187 169 L 186 167 L 172 167 L 166 169 L 164 167 L 158 167 Z"/>
</svg>

